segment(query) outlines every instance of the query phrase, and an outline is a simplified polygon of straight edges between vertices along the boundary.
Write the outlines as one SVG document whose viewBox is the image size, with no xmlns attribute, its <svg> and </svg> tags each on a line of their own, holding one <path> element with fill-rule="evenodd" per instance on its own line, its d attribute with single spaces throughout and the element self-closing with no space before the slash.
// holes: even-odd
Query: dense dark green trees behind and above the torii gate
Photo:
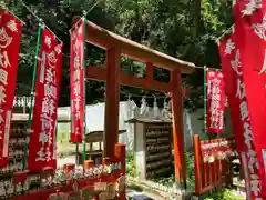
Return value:
<svg viewBox="0 0 266 200">
<path fill-rule="evenodd" d="M 23 0 L 28 7 L 50 27 L 63 41 L 63 78 L 60 106 L 70 104 L 69 64 L 70 36 L 72 18 L 90 10 L 94 0 Z M 0 1 L 27 24 L 23 27 L 17 94 L 29 96 L 34 49 L 37 44 L 38 20 L 18 0 Z M 105 0 L 101 1 L 88 19 L 111 31 L 136 42 L 163 51 L 173 57 L 194 62 L 196 66 L 219 67 L 215 40 L 232 24 L 229 1 L 219 0 Z M 89 64 L 104 64 L 103 50 L 89 46 Z M 122 59 L 122 68 L 132 74 L 145 76 L 145 66 L 129 59 Z M 167 81 L 168 72 L 155 69 L 155 79 Z M 185 106 L 192 109 L 202 107 L 203 70 L 184 77 L 184 84 L 192 90 Z M 104 100 L 104 83 L 90 81 L 88 103 Z M 135 94 L 152 94 L 142 89 L 122 90 Z M 124 96 L 121 99 L 125 99 Z M 140 101 L 140 99 L 135 99 Z M 162 100 L 163 101 L 163 100 Z M 162 102 L 158 102 L 162 103 Z"/>
</svg>

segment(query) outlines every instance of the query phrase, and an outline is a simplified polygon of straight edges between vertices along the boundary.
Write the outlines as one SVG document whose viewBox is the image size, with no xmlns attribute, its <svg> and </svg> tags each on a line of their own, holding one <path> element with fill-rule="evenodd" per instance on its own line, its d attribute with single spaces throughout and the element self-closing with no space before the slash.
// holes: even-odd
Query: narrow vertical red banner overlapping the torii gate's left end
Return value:
<svg viewBox="0 0 266 200">
<path fill-rule="evenodd" d="M 84 138 L 84 23 L 78 21 L 71 29 L 71 141 Z"/>
</svg>

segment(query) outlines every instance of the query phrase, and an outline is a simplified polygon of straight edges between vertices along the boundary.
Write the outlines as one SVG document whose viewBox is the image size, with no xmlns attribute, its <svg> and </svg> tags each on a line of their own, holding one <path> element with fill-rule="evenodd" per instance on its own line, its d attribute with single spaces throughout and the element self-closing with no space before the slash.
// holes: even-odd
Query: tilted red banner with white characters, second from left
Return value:
<svg viewBox="0 0 266 200">
<path fill-rule="evenodd" d="M 54 139 L 58 99 L 62 73 L 62 43 L 48 29 L 42 29 L 35 81 L 35 100 L 30 133 L 28 169 L 55 168 Z"/>
</svg>

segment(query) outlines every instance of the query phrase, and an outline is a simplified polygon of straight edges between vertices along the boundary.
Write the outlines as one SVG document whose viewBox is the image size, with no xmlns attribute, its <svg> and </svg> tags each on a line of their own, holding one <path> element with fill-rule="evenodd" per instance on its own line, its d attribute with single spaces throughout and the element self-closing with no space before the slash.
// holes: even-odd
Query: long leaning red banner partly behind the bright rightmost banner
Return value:
<svg viewBox="0 0 266 200">
<path fill-rule="evenodd" d="M 233 132 L 245 174 L 247 197 L 263 200 L 258 157 L 248 112 L 249 99 L 246 96 L 245 82 L 243 82 L 242 54 L 236 44 L 235 32 L 219 41 L 219 54 L 225 76 Z"/>
</svg>

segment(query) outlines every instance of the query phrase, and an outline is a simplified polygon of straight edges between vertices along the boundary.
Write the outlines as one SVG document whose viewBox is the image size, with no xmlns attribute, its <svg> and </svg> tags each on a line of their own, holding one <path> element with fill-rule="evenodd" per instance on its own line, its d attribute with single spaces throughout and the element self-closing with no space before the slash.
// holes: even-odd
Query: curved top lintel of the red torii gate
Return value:
<svg viewBox="0 0 266 200">
<path fill-rule="evenodd" d="M 170 71 L 178 69 L 181 73 L 188 74 L 195 70 L 195 64 L 192 62 L 186 62 L 150 49 L 149 47 L 103 29 L 91 21 L 86 21 L 86 40 L 88 42 L 103 49 L 117 47 L 123 57 L 142 62 L 151 62 L 155 67 L 164 68 Z"/>
</svg>

